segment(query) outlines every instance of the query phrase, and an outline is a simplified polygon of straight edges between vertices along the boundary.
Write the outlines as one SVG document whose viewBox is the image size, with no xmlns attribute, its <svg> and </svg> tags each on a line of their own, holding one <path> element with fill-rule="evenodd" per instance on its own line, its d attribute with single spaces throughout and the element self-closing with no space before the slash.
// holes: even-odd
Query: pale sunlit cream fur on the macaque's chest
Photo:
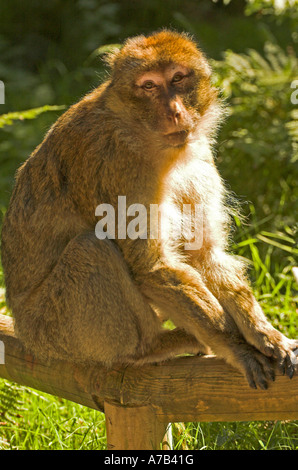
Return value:
<svg viewBox="0 0 298 470">
<path fill-rule="evenodd" d="M 190 143 L 169 170 L 162 197 L 164 256 L 201 256 L 226 245 L 225 189 L 207 140 Z"/>
</svg>

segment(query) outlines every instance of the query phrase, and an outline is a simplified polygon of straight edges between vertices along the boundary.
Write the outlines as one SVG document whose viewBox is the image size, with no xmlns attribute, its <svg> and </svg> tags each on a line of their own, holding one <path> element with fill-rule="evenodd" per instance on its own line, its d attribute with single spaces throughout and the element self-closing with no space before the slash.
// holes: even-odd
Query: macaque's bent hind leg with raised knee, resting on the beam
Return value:
<svg viewBox="0 0 298 470">
<path fill-rule="evenodd" d="M 156 338 L 165 338 L 120 251 L 93 233 L 69 242 L 48 278 L 17 312 L 16 328 L 37 356 L 108 366 L 144 358 L 153 344 L 158 347 Z M 162 359 L 198 352 L 193 337 L 180 336 L 171 351 L 163 348 Z"/>
</svg>

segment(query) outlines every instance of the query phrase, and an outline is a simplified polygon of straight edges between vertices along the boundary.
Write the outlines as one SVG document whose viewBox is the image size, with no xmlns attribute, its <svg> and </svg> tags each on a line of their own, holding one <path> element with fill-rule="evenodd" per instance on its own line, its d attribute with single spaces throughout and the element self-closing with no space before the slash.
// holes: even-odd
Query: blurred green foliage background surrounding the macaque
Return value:
<svg viewBox="0 0 298 470">
<path fill-rule="evenodd" d="M 161 27 L 188 31 L 211 60 L 229 110 L 214 149 L 216 162 L 244 215 L 235 217 L 231 248 L 249 260 L 254 291 L 272 323 L 295 337 L 296 0 L 0 0 L 0 228 L 16 169 L 63 109 L 106 76 L 100 48 Z M 0 312 L 7 313 L 4 294 L 0 266 Z M 262 441 L 259 427 L 253 432 Z M 11 442 L 8 435 L 6 428 L 4 439 Z M 26 439 L 29 447 L 37 445 Z M 297 448 L 297 434 L 294 441 Z M 229 448 L 229 439 L 222 442 Z"/>
</svg>

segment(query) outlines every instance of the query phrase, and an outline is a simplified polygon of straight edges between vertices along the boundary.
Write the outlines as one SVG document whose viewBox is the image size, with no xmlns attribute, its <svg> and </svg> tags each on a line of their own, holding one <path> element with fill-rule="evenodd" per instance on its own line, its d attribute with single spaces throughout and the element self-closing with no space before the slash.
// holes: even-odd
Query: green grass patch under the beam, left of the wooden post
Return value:
<svg viewBox="0 0 298 470">
<path fill-rule="evenodd" d="M 2 450 L 106 448 L 102 413 L 4 380 L 0 401 Z"/>
</svg>

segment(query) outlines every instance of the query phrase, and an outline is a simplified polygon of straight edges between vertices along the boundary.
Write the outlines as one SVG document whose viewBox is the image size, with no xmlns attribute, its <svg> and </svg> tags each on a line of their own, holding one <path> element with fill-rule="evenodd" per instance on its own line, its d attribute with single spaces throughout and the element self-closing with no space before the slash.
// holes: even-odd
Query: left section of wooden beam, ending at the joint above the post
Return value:
<svg viewBox="0 0 298 470">
<path fill-rule="evenodd" d="M 14 335 L 12 319 L 5 315 L 0 315 L 0 341 L 4 344 L 5 359 L 0 364 L 0 377 L 103 411 L 103 397 L 110 383 L 105 368 L 40 361 L 25 351 Z M 115 387 L 117 378 L 120 386 L 121 372 L 113 371 Z"/>
</svg>

